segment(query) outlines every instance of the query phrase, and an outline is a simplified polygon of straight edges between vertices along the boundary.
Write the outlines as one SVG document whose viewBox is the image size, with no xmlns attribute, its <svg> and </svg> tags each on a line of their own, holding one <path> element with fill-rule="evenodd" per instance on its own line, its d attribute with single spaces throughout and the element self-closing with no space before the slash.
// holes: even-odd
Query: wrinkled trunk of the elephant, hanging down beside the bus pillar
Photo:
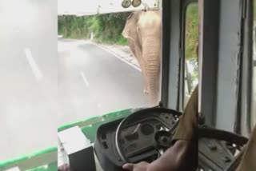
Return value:
<svg viewBox="0 0 256 171">
<path fill-rule="evenodd" d="M 146 83 L 149 89 L 150 102 L 157 105 L 159 96 L 160 76 L 160 40 L 146 38 L 143 40 L 142 55 L 145 62 Z"/>
</svg>

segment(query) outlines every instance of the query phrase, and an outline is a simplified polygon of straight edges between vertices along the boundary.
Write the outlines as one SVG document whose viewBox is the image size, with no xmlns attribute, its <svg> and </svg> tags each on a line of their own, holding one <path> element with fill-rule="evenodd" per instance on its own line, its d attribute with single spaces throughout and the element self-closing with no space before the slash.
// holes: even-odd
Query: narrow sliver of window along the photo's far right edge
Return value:
<svg viewBox="0 0 256 171">
<path fill-rule="evenodd" d="M 253 33 L 253 110 L 252 110 L 252 125 L 256 124 L 256 0 L 254 0 L 254 33 Z"/>
</svg>

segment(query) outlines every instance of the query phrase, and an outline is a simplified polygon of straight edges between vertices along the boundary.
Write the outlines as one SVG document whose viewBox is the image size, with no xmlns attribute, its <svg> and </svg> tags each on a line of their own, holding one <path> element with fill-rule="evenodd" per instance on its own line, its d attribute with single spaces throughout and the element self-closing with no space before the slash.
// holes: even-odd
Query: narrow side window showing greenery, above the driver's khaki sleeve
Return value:
<svg viewBox="0 0 256 171">
<path fill-rule="evenodd" d="M 183 108 L 198 85 L 198 3 L 186 7 Z"/>
</svg>

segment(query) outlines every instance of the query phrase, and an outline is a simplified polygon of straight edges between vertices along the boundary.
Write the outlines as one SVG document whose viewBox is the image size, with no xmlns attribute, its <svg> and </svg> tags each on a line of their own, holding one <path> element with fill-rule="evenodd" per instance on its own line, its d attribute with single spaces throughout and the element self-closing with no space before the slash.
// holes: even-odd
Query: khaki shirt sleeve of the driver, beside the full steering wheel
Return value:
<svg viewBox="0 0 256 171">
<path fill-rule="evenodd" d="M 190 100 L 186 105 L 184 114 L 182 115 L 176 132 L 174 133 L 174 141 L 176 140 L 192 140 L 193 134 L 198 129 L 198 86 L 194 89 Z"/>
</svg>

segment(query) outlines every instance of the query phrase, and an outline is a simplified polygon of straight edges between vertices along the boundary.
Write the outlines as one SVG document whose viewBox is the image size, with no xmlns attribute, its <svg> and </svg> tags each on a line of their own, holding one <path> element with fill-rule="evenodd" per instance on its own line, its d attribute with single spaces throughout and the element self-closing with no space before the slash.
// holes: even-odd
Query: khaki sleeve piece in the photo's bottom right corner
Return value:
<svg viewBox="0 0 256 171">
<path fill-rule="evenodd" d="M 238 165 L 237 171 L 255 171 L 256 170 L 256 125 L 250 134 L 250 139 L 244 149 L 242 161 Z"/>
</svg>

